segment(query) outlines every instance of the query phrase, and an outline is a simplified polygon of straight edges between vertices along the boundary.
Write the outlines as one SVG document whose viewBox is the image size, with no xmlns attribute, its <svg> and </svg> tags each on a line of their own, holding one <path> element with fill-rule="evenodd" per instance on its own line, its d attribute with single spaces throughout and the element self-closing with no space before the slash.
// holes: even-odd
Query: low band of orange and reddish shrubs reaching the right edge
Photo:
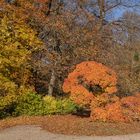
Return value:
<svg viewBox="0 0 140 140">
<path fill-rule="evenodd" d="M 104 97 L 92 101 L 92 120 L 109 122 L 140 121 L 140 93 L 122 99 L 116 98 L 116 101 L 112 101 L 111 98 L 109 100 Z"/>
</svg>

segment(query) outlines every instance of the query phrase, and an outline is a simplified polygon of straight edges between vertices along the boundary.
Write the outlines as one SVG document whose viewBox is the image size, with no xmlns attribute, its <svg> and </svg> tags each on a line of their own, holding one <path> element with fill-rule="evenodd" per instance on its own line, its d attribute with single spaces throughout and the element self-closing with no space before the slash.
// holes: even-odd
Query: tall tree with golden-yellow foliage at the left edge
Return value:
<svg viewBox="0 0 140 140">
<path fill-rule="evenodd" d="M 30 89 L 30 60 L 42 42 L 9 7 L 0 10 L 0 111 Z"/>
</svg>

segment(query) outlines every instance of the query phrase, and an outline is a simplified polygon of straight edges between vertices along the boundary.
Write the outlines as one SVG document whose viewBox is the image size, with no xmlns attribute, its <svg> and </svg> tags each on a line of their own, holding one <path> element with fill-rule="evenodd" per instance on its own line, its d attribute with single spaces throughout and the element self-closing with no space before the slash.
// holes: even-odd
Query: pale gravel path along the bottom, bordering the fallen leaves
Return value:
<svg viewBox="0 0 140 140">
<path fill-rule="evenodd" d="M 39 126 L 15 126 L 0 131 L 0 140 L 140 140 L 140 133 L 123 136 L 66 136 L 52 134 Z"/>
</svg>

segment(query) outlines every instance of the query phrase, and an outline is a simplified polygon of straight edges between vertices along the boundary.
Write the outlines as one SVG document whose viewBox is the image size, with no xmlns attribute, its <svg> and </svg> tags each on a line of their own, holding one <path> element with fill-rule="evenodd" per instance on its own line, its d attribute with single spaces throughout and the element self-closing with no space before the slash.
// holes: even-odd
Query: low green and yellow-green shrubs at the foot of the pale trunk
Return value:
<svg viewBox="0 0 140 140">
<path fill-rule="evenodd" d="M 28 93 L 20 97 L 13 115 L 51 115 L 69 114 L 76 111 L 77 105 L 69 99 L 55 99 L 51 96 L 42 97 Z"/>
</svg>

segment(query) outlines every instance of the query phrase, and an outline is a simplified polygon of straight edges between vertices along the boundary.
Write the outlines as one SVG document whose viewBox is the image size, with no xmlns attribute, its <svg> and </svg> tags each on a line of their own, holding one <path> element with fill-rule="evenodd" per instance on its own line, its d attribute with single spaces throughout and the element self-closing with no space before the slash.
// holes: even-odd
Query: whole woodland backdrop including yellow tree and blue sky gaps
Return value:
<svg viewBox="0 0 140 140">
<path fill-rule="evenodd" d="M 139 8 L 139 0 L 0 0 L 0 110 L 27 91 L 63 96 L 64 79 L 87 60 L 116 71 L 119 97 L 139 92 Z"/>
</svg>

